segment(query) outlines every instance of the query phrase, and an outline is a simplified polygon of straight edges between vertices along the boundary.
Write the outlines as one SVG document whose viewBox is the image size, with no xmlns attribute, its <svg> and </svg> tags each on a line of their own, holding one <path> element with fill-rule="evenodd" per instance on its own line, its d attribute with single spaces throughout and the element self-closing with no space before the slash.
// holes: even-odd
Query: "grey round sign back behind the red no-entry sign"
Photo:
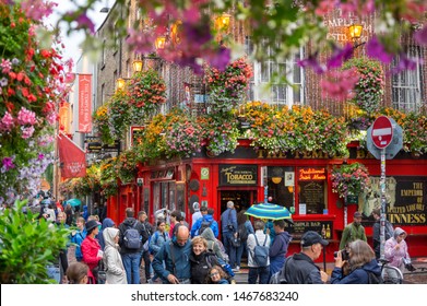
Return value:
<svg viewBox="0 0 427 306">
<path fill-rule="evenodd" d="M 402 128 L 392 119 L 389 118 L 393 127 L 393 139 L 389 146 L 386 148 L 386 160 L 393 160 L 394 156 L 402 150 L 403 146 L 403 130 Z M 372 126 L 367 130 L 367 141 L 366 148 L 377 160 L 381 158 L 381 150 L 373 144 L 373 140 L 370 137 L 372 133 Z"/>
</svg>

